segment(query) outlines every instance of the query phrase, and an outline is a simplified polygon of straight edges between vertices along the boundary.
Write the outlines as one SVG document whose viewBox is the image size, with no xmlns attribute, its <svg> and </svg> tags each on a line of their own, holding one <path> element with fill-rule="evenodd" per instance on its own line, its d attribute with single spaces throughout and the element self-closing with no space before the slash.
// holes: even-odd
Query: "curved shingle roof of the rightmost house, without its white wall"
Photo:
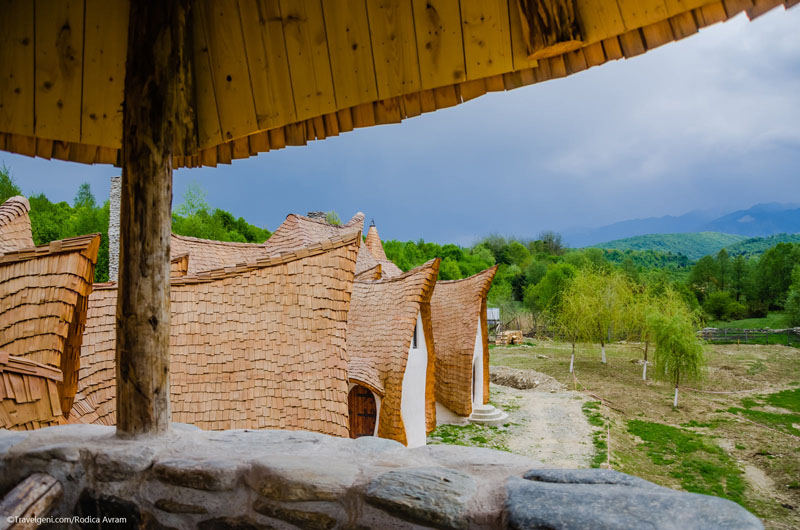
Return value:
<svg viewBox="0 0 800 530">
<path fill-rule="evenodd" d="M 472 413 L 472 358 L 478 326 L 483 333 L 484 402 L 489 397 L 486 297 L 497 266 L 469 278 L 438 281 L 431 298 L 436 349 L 436 401 L 461 416 Z"/>
</svg>

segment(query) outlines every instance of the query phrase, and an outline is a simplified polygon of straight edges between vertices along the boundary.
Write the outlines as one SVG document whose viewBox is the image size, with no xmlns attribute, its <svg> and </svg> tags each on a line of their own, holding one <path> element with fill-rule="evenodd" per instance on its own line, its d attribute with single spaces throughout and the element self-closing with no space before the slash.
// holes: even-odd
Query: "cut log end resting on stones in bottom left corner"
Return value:
<svg viewBox="0 0 800 530">
<path fill-rule="evenodd" d="M 46 473 L 34 473 L 3 497 L 0 528 L 35 528 L 34 524 L 16 523 L 16 519 L 47 515 L 63 493 L 58 480 Z"/>
</svg>

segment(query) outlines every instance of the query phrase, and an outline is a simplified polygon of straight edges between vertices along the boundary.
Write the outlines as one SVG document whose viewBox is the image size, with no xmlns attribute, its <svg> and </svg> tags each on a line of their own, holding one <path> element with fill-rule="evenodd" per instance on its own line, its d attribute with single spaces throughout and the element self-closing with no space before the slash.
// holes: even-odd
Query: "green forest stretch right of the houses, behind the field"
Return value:
<svg viewBox="0 0 800 530">
<path fill-rule="evenodd" d="M 777 243 L 752 257 L 732 257 L 723 248 L 696 262 L 654 250 L 569 249 L 553 232 L 531 240 L 493 235 L 466 248 L 423 240 L 385 241 L 384 248 L 403 270 L 440 257 L 440 278 L 448 280 L 499 265 L 489 303 L 503 309 L 503 320 L 520 313 L 552 317 L 576 274 L 593 270 L 620 271 L 639 291 L 668 286 L 698 316 L 698 325 L 772 311 L 785 311 L 791 325 L 800 325 L 798 243 Z"/>
</svg>

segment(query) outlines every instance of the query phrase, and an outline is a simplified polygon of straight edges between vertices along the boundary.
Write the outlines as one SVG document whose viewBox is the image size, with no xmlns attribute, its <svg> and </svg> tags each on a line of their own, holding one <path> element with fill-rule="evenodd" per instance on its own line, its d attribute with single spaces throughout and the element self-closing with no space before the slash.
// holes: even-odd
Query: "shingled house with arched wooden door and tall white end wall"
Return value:
<svg viewBox="0 0 800 530">
<path fill-rule="evenodd" d="M 356 280 L 347 323 L 350 436 L 425 445 L 436 427 L 431 295 L 439 260 Z"/>
</svg>

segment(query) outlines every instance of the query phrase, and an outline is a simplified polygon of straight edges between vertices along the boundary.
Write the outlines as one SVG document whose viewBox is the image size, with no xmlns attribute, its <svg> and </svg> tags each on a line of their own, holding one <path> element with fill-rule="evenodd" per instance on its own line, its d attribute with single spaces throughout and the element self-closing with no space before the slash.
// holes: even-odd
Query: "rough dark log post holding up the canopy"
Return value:
<svg viewBox="0 0 800 530">
<path fill-rule="evenodd" d="M 117 435 L 169 428 L 172 157 L 196 152 L 190 0 L 130 3 L 122 133 Z"/>
</svg>

